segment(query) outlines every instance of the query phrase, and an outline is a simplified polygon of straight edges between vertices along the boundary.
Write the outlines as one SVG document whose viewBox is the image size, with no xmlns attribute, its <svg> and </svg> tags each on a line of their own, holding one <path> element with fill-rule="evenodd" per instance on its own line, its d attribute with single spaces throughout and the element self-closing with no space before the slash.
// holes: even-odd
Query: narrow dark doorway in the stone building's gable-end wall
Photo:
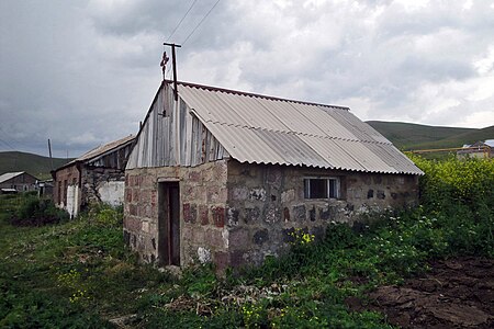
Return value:
<svg viewBox="0 0 494 329">
<path fill-rule="evenodd" d="M 158 183 L 158 263 L 180 266 L 180 189 Z"/>
</svg>

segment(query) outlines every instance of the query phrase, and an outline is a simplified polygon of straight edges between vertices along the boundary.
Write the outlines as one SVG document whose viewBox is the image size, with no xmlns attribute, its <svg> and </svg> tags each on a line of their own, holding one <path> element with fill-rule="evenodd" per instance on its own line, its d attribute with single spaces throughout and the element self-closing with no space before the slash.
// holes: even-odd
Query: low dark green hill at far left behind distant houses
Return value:
<svg viewBox="0 0 494 329">
<path fill-rule="evenodd" d="M 53 159 L 53 167 L 58 168 L 72 159 Z M 12 171 L 26 171 L 38 179 L 48 179 L 52 175 L 52 164 L 48 157 L 38 155 L 9 151 L 0 152 L 0 174 Z"/>
</svg>

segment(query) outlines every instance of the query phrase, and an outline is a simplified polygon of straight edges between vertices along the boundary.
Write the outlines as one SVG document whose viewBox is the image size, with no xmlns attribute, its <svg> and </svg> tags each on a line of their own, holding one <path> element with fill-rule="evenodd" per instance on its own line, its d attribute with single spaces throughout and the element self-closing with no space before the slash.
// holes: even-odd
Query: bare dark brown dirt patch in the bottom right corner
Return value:
<svg viewBox="0 0 494 329">
<path fill-rule="evenodd" d="M 430 263 L 426 275 L 370 295 L 370 309 L 403 328 L 494 328 L 494 260 Z"/>
</svg>

